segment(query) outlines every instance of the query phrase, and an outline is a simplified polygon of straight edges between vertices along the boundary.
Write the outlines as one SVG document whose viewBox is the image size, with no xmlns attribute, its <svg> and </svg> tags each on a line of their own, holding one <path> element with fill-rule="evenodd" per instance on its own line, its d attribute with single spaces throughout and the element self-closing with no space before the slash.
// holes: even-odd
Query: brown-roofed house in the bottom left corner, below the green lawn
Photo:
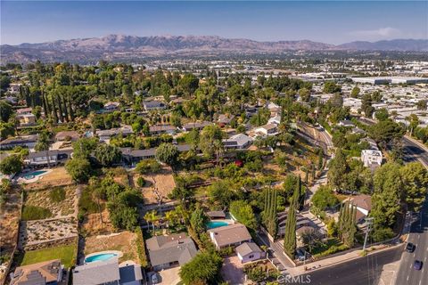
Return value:
<svg viewBox="0 0 428 285">
<path fill-rule="evenodd" d="M 20 266 L 11 273 L 11 285 L 56 285 L 62 281 L 63 265 L 59 259 Z"/>
</svg>

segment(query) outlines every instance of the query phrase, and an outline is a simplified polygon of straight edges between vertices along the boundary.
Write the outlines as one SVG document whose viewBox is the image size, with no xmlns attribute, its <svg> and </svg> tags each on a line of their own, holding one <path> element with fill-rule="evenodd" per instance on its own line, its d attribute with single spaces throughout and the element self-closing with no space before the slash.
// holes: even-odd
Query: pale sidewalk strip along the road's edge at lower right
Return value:
<svg viewBox="0 0 428 285">
<path fill-rule="evenodd" d="M 397 246 L 401 246 L 401 245 L 399 244 Z M 371 255 L 373 253 L 379 252 L 379 250 L 389 249 L 389 248 L 393 248 L 393 247 L 388 247 L 386 245 L 378 245 L 378 246 L 370 247 L 370 248 L 367 248 L 367 249 L 370 249 L 370 252 L 367 252 L 367 255 Z M 297 276 L 304 273 L 310 273 L 311 271 L 314 271 L 317 269 L 324 269 L 325 267 L 328 267 L 328 266 L 338 265 L 343 262 L 348 262 L 352 259 L 362 257 L 360 255 L 361 251 L 362 249 L 356 249 L 343 255 L 325 258 L 306 265 L 287 268 L 287 272 L 290 273 L 292 276 Z"/>
</svg>

